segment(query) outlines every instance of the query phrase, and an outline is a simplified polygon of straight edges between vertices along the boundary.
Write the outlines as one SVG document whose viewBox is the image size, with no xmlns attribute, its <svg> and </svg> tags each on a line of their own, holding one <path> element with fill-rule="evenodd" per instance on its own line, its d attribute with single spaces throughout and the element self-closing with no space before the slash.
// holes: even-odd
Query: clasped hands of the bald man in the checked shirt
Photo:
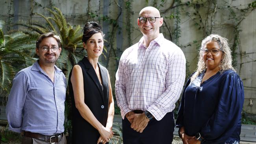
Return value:
<svg viewBox="0 0 256 144">
<path fill-rule="evenodd" d="M 146 117 L 145 113 L 133 114 L 129 116 L 128 119 L 133 119 L 131 128 L 140 133 L 143 132 L 143 130 L 145 129 L 149 122 L 149 119 Z"/>
</svg>

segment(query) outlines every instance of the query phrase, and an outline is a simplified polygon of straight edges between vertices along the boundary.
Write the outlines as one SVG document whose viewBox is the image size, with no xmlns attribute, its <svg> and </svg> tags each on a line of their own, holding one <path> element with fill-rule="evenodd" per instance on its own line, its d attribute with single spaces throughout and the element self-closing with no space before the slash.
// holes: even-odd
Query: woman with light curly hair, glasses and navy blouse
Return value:
<svg viewBox="0 0 256 144">
<path fill-rule="evenodd" d="M 226 38 L 201 44 L 197 70 L 187 80 L 176 120 L 183 144 L 239 144 L 243 83 L 232 66 Z"/>
</svg>

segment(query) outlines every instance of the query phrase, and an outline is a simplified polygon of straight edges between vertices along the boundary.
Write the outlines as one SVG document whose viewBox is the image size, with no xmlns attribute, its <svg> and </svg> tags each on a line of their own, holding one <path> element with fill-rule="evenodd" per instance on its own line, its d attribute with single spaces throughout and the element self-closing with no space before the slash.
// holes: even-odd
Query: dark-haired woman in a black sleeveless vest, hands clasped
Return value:
<svg viewBox="0 0 256 144">
<path fill-rule="evenodd" d="M 98 63 L 103 50 L 101 27 L 87 22 L 83 48 L 87 51 L 69 75 L 72 99 L 72 144 L 106 144 L 113 138 L 114 100 L 108 70 Z"/>
</svg>

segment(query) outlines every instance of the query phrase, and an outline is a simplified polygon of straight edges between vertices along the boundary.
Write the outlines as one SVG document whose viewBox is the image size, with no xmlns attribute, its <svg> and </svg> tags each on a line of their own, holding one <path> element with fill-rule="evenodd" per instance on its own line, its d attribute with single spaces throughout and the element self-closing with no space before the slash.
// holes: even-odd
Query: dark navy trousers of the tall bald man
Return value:
<svg viewBox="0 0 256 144">
<path fill-rule="evenodd" d="M 153 118 L 142 133 L 134 131 L 131 123 L 124 117 L 122 135 L 124 144 L 171 144 L 174 131 L 173 112 L 165 114 L 160 120 Z"/>
</svg>

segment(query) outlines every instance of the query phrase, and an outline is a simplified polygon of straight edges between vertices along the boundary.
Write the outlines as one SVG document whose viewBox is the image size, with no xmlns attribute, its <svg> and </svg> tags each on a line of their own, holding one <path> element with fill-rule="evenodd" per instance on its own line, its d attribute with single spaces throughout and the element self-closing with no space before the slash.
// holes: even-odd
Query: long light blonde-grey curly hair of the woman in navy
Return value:
<svg viewBox="0 0 256 144">
<path fill-rule="evenodd" d="M 199 51 L 199 58 L 198 58 L 198 63 L 197 63 L 197 70 L 191 77 L 191 82 L 197 78 L 197 76 L 202 73 L 203 70 L 207 68 L 206 64 L 204 63 L 203 60 L 203 52 L 201 49 L 205 48 L 205 45 L 207 42 L 210 41 L 216 41 L 219 44 L 219 47 L 221 48 L 221 51 L 223 52 L 222 54 L 222 59 L 221 63 L 219 64 L 220 72 L 223 72 L 224 70 L 234 70 L 234 67 L 232 66 L 232 56 L 231 56 L 231 50 L 228 46 L 228 39 L 225 37 L 221 37 L 220 35 L 217 34 L 210 34 L 206 38 L 203 39 L 200 51 Z"/>
</svg>

